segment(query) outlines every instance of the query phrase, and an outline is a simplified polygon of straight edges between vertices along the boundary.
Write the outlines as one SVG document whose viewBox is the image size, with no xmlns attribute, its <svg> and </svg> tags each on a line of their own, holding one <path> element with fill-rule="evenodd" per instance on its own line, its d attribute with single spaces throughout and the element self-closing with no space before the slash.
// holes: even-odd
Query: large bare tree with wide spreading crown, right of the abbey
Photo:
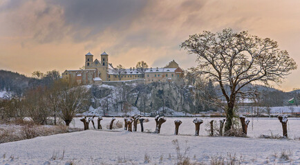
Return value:
<svg viewBox="0 0 300 165">
<path fill-rule="evenodd" d="M 231 129 L 234 106 L 238 97 L 248 97 L 256 91 L 243 91 L 250 83 L 281 83 L 297 69 L 286 50 L 279 50 L 276 41 L 261 39 L 247 32 L 203 32 L 189 36 L 181 45 L 188 54 L 196 54 L 194 74 L 205 75 L 218 83 L 226 103 L 218 102 L 226 112 L 225 130 Z M 228 89 L 226 88 L 228 86 Z"/>
</svg>

